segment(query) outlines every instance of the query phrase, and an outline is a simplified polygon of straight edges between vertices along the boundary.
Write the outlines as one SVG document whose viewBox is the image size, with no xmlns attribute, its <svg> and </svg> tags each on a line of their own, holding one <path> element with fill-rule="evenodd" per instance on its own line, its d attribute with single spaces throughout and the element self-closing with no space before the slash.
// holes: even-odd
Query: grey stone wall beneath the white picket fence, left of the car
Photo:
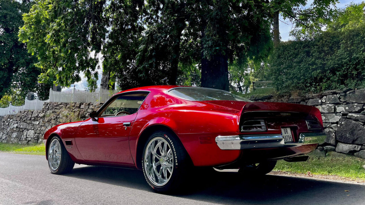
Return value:
<svg viewBox="0 0 365 205">
<path fill-rule="evenodd" d="M 0 118 L 0 142 L 43 143 L 43 134 L 51 127 L 72 121 L 85 120 L 102 103 L 46 102 L 40 111 L 20 111 Z"/>
</svg>

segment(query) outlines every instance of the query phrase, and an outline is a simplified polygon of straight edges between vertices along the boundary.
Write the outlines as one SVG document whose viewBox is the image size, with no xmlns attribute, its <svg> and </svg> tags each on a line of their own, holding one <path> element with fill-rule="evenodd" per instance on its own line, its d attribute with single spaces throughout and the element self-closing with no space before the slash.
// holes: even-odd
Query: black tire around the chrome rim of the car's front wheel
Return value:
<svg viewBox="0 0 365 205">
<path fill-rule="evenodd" d="M 51 162 L 50 162 L 49 150 L 51 148 L 53 141 L 57 141 L 61 148 L 61 158 L 59 160 L 59 165 L 57 167 L 52 167 Z M 51 170 L 52 174 L 65 174 L 65 173 L 71 172 L 71 170 L 73 169 L 73 166 L 75 165 L 75 162 L 73 162 L 73 160 L 71 159 L 64 144 L 62 143 L 62 140 L 58 136 L 53 136 L 50 139 L 50 143 L 48 145 L 47 152 L 48 152 L 47 153 L 48 166 L 49 166 L 49 169 Z"/>
</svg>

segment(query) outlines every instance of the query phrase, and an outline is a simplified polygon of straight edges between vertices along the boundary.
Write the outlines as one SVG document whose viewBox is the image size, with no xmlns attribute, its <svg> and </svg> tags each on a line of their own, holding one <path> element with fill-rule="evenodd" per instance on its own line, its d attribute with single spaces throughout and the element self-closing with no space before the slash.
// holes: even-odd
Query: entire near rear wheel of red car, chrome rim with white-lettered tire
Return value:
<svg viewBox="0 0 365 205">
<path fill-rule="evenodd" d="M 171 132 L 151 134 L 143 149 L 142 169 L 147 183 L 157 192 L 174 192 L 184 185 L 190 166 L 181 142 Z"/>
</svg>

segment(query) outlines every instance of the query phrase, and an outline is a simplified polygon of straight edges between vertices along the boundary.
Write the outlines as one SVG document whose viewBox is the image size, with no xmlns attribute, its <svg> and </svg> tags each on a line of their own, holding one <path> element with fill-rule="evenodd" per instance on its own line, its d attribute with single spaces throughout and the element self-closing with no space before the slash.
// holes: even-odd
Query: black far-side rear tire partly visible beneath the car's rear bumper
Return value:
<svg viewBox="0 0 365 205">
<path fill-rule="evenodd" d="M 275 165 L 276 165 L 276 161 L 264 161 L 264 162 L 258 163 L 258 165 L 253 164 L 253 165 L 241 167 L 238 170 L 238 173 L 243 176 L 246 176 L 246 175 L 261 176 L 261 175 L 268 174 L 270 171 L 272 171 L 274 169 Z"/>
</svg>

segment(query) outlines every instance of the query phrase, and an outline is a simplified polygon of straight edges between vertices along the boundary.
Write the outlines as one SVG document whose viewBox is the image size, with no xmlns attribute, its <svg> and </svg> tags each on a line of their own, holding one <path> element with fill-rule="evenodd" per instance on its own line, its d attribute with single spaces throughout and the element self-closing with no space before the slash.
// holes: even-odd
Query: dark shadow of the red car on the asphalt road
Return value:
<svg viewBox="0 0 365 205">
<path fill-rule="evenodd" d="M 65 176 L 151 191 L 139 170 L 87 166 L 75 168 Z M 334 205 L 358 204 L 365 200 L 364 185 L 318 179 L 265 175 L 260 178 L 247 176 L 245 180 L 231 173 L 199 173 L 188 180 L 191 190 L 176 197 L 218 204 Z"/>
</svg>

